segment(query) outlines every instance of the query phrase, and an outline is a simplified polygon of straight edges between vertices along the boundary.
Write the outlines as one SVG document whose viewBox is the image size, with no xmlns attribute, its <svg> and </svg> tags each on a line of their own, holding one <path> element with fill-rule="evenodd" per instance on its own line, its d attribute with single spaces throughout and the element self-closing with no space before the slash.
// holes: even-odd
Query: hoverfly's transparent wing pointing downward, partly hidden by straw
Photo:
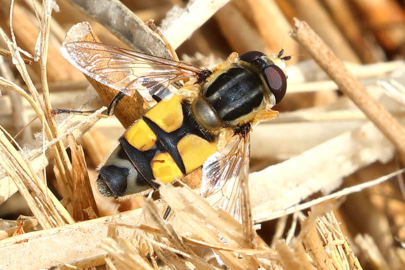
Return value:
<svg viewBox="0 0 405 270">
<path fill-rule="evenodd" d="M 224 155 L 212 155 L 203 165 L 201 196 L 211 205 L 229 212 L 237 221 L 242 221 L 246 202 L 240 201 L 241 180 L 247 182 L 250 157 L 250 134 L 238 135 L 236 143 Z"/>
</svg>

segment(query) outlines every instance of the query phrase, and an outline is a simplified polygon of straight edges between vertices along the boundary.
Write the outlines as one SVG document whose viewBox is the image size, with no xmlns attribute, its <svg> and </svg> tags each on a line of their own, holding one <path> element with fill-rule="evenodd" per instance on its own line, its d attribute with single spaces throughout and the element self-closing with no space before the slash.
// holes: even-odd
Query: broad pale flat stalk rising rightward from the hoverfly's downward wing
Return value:
<svg viewBox="0 0 405 270">
<path fill-rule="evenodd" d="M 333 190 L 341 184 L 344 176 L 376 160 L 387 162 L 392 156 L 391 144 L 369 123 L 321 143 L 297 157 L 251 173 L 254 220 L 260 222 L 285 215 L 286 212 L 276 212 L 276 215 L 274 212 L 298 204 L 313 192 Z M 336 163 L 336 157 L 344 158 Z M 289 169 L 292 167 L 294 170 Z"/>
</svg>

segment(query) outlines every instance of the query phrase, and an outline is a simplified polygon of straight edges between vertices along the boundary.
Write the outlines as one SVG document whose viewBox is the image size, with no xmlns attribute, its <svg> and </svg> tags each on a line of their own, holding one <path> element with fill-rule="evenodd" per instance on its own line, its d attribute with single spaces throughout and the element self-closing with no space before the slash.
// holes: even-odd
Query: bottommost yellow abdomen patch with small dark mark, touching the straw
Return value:
<svg viewBox="0 0 405 270">
<path fill-rule="evenodd" d="M 167 184 L 180 179 L 183 173 L 169 153 L 158 153 L 150 162 L 155 179 Z"/>
</svg>

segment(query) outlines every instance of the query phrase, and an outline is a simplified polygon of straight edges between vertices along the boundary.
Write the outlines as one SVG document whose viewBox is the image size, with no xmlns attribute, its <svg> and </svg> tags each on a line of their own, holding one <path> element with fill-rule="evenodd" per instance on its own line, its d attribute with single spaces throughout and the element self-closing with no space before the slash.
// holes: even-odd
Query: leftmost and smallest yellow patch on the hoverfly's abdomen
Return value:
<svg viewBox="0 0 405 270">
<path fill-rule="evenodd" d="M 156 135 L 142 119 L 125 133 L 127 141 L 140 151 L 150 149 L 156 142 Z"/>
</svg>

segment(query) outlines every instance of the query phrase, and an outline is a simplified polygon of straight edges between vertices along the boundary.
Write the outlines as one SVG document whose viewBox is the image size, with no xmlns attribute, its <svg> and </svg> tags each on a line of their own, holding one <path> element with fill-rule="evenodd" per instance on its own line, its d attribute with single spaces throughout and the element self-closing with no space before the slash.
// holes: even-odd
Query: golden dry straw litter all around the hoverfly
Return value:
<svg viewBox="0 0 405 270">
<path fill-rule="evenodd" d="M 403 1 L 0 3 L 0 269 L 405 268 Z M 279 117 L 251 135 L 243 225 L 198 195 L 200 170 L 153 198 L 94 187 L 153 104 L 136 94 L 99 117 L 116 92 L 59 48 L 87 40 L 170 57 L 149 19 L 196 66 L 231 52 L 293 56 Z"/>
</svg>

